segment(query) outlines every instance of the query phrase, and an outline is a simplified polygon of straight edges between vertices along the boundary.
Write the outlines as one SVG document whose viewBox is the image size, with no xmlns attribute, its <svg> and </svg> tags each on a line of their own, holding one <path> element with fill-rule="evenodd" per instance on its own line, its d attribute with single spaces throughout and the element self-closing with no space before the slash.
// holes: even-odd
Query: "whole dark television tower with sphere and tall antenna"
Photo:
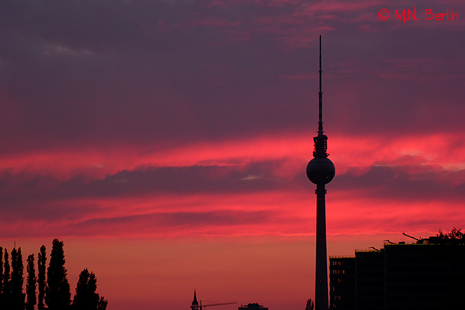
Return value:
<svg viewBox="0 0 465 310">
<path fill-rule="evenodd" d="M 335 168 L 327 154 L 328 137 L 323 134 L 322 105 L 323 93 L 321 91 L 321 36 L 320 36 L 320 92 L 318 136 L 313 138 L 315 149 L 313 159 L 307 165 L 307 176 L 316 184 L 316 274 L 315 274 L 315 310 L 328 310 L 328 264 L 326 249 L 326 210 L 324 185 L 333 180 Z"/>
</svg>

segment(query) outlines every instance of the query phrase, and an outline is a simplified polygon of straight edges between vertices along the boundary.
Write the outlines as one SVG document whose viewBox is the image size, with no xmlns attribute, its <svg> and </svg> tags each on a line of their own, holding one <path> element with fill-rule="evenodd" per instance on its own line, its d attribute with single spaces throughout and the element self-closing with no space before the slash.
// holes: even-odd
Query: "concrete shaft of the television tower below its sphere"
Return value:
<svg viewBox="0 0 465 310">
<path fill-rule="evenodd" d="M 327 310 L 328 304 L 328 264 L 326 242 L 326 189 L 324 184 L 316 185 L 316 271 L 315 309 Z"/>
</svg>

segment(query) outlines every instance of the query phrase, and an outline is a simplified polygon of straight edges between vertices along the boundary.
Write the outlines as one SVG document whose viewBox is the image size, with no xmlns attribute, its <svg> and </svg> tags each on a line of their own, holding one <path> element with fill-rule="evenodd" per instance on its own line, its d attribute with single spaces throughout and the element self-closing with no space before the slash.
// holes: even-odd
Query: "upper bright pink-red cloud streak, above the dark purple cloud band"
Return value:
<svg viewBox="0 0 465 310">
<path fill-rule="evenodd" d="M 133 171 L 143 167 L 231 165 L 237 169 L 257 161 L 285 159 L 290 164 L 287 174 L 296 175 L 300 167 L 295 167 L 295 162 L 311 159 L 312 144 L 311 134 L 300 133 L 257 136 L 248 140 L 205 141 L 165 149 L 152 149 L 149 145 L 110 146 L 105 149 L 87 147 L 78 151 L 50 149 L 46 152 L 3 155 L 0 171 L 24 174 L 25 177 L 50 175 L 58 180 L 84 175 L 96 180 L 123 170 Z M 465 156 L 464 145 L 462 134 L 398 137 L 330 135 L 329 138 L 329 152 L 333 161 L 338 163 L 338 174 L 344 174 L 350 167 L 365 169 L 371 165 L 401 165 L 406 159 L 406 163 L 464 169 L 465 163 L 461 160 Z"/>
</svg>

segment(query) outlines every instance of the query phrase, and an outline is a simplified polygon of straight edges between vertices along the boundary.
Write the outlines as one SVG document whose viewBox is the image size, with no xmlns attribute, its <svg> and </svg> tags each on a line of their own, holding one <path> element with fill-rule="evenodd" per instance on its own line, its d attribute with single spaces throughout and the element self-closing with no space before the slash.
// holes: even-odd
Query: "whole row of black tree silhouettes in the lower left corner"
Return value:
<svg viewBox="0 0 465 310">
<path fill-rule="evenodd" d="M 106 310 L 107 300 L 96 293 L 97 279 L 87 269 L 81 271 L 76 293 L 71 300 L 70 284 L 65 268 L 63 241 L 53 240 L 50 262 L 42 245 L 37 254 L 37 276 L 34 254 L 26 260 L 26 285 L 21 247 L 12 249 L 11 265 L 7 249 L 0 247 L 0 309 L 34 310 Z M 36 295 L 36 291 L 38 294 Z"/>
</svg>

